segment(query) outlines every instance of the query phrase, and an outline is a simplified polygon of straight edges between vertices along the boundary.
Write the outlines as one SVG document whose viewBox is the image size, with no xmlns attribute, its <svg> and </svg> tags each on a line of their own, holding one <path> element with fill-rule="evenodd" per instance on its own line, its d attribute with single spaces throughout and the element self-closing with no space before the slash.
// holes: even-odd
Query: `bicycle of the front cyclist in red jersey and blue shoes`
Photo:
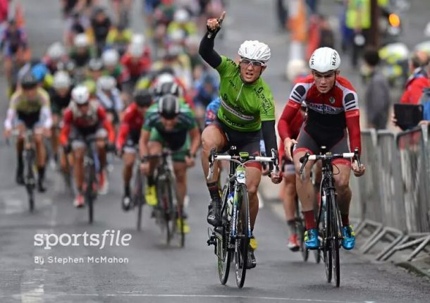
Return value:
<svg viewBox="0 0 430 303">
<path fill-rule="evenodd" d="M 334 159 L 355 159 L 358 167 L 361 169 L 360 156 L 358 149 L 353 153 L 332 154 L 324 152 L 325 147 L 321 147 L 320 155 L 311 155 L 306 153 L 300 158 L 302 166 L 300 174 L 306 166 L 307 161 L 322 161 L 322 180 L 320 187 L 320 203 L 318 211 L 317 226 L 319 228 L 319 237 L 321 237 L 320 249 L 323 252 L 323 260 L 326 268 L 327 282 L 331 282 L 332 273 L 334 272 L 334 280 L 336 287 L 340 285 L 340 264 L 339 264 L 339 247 L 343 240 L 342 235 L 342 220 L 340 218 L 340 210 L 336 203 L 336 188 L 334 186 L 333 164 Z"/>
</svg>

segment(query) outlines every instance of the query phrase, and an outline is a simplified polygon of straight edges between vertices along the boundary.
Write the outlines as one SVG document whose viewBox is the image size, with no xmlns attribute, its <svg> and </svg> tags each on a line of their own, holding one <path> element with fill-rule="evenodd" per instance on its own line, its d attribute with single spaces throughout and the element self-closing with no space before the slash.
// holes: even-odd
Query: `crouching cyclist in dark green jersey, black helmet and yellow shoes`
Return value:
<svg viewBox="0 0 430 303">
<path fill-rule="evenodd" d="M 190 142 L 191 141 L 191 142 Z M 145 123 L 140 134 L 139 151 L 142 159 L 142 171 L 148 176 L 145 192 L 147 204 L 156 205 L 154 168 L 156 159 L 145 161 L 145 156 L 160 154 L 163 147 L 168 147 L 173 154 L 173 170 L 176 175 L 176 188 L 179 202 L 182 204 L 187 192 L 187 168 L 194 166 L 197 149 L 200 145 L 200 132 L 190 106 L 180 102 L 178 97 L 167 94 L 157 104 L 149 107 Z M 184 222 L 184 231 L 189 227 Z"/>
</svg>

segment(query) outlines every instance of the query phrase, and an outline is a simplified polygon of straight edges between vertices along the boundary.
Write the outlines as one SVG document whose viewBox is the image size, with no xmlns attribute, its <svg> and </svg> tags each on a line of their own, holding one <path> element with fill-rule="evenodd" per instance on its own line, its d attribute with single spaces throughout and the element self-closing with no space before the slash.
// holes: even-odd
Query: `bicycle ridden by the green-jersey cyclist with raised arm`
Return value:
<svg viewBox="0 0 430 303">
<path fill-rule="evenodd" d="M 207 245 L 214 245 L 217 256 L 218 274 L 221 284 L 226 284 L 230 272 L 231 256 L 234 253 L 236 284 L 239 288 L 245 283 L 248 245 L 250 244 L 250 205 L 246 187 L 245 164 L 251 161 L 271 162 L 278 173 L 278 154 L 272 150 L 272 157 L 250 156 L 247 152 L 236 154 L 236 147 L 231 147 L 229 155 L 216 154 L 211 150 L 209 156 L 209 175 L 214 174 L 214 161 L 230 161 L 226 184 L 221 196 L 221 226 L 209 229 Z"/>
</svg>

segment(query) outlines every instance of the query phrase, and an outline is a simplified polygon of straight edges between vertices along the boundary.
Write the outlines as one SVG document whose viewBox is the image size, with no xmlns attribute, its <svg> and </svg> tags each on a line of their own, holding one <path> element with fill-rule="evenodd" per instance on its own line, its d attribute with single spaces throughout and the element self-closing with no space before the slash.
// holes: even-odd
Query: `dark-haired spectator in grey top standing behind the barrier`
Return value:
<svg viewBox="0 0 430 303">
<path fill-rule="evenodd" d="M 390 87 L 388 81 L 378 69 L 380 60 L 378 51 L 373 48 L 366 49 L 363 58 L 370 71 L 366 97 L 364 98 L 367 127 L 380 130 L 386 128 L 390 106 Z"/>
</svg>

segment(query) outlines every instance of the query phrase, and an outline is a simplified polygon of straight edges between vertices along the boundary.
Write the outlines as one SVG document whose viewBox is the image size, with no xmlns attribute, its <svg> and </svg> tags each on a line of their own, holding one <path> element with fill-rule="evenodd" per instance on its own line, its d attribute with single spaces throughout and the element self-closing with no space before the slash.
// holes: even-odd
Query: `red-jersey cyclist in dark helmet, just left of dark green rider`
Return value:
<svg viewBox="0 0 430 303">
<path fill-rule="evenodd" d="M 124 111 L 121 126 L 116 139 L 116 152 L 123 157 L 124 195 L 121 202 L 123 209 L 130 209 L 130 180 L 133 175 L 136 147 L 139 144 L 140 130 L 147 109 L 152 104 L 152 95 L 148 89 L 140 89 L 133 95 L 134 102 Z"/>
</svg>

